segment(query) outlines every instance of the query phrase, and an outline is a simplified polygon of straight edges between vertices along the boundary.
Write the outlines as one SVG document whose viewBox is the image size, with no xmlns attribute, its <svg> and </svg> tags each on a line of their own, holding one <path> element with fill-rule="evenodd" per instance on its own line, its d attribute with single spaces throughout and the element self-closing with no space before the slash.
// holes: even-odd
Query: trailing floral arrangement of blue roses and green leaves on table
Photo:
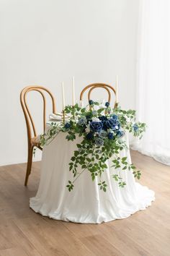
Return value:
<svg viewBox="0 0 170 256">
<path fill-rule="evenodd" d="M 107 191 L 107 183 L 102 180 L 102 173 L 107 168 L 107 160 L 112 159 L 112 166 L 118 170 L 112 174 L 112 178 L 124 187 L 119 170 L 132 171 L 133 175 L 140 179 L 140 171 L 132 163 L 128 163 L 126 157 L 120 158 L 120 151 L 127 148 L 124 135 L 131 132 L 135 137 L 141 138 L 146 130 L 146 124 L 135 121 L 134 110 L 122 110 L 120 107 L 111 108 L 109 103 L 100 105 L 98 102 L 89 101 L 86 108 L 66 106 L 65 113 L 69 119 L 65 122 L 51 122 L 48 131 L 41 135 L 40 144 L 48 145 L 58 132 L 66 132 L 66 140 L 75 140 L 76 136 L 82 137 L 77 150 L 74 151 L 69 163 L 69 171 L 73 173 L 73 181 L 68 181 L 70 192 L 76 179 L 84 171 L 89 171 L 92 181 L 99 177 L 99 189 Z M 81 172 L 77 171 L 81 166 Z"/>
</svg>

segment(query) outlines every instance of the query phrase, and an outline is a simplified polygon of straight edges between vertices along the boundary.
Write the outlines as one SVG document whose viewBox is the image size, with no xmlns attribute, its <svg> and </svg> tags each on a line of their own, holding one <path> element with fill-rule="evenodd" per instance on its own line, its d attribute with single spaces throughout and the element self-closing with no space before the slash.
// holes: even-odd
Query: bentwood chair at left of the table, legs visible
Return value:
<svg viewBox="0 0 170 256">
<path fill-rule="evenodd" d="M 55 113 L 55 99 L 53 97 L 53 94 L 50 93 L 50 91 L 46 88 L 43 88 L 42 86 L 27 86 L 24 88 L 20 94 L 20 101 L 22 105 L 22 109 L 24 111 L 24 118 L 26 121 L 27 125 L 27 145 L 28 145 L 28 152 L 27 152 L 27 171 L 26 171 L 26 176 L 25 176 L 25 181 L 24 181 L 24 186 L 27 186 L 28 182 L 28 177 L 31 173 L 31 167 L 32 167 L 32 154 L 33 154 L 33 149 L 34 147 L 42 148 L 40 147 L 40 144 L 37 140 L 37 132 L 35 129 L 35 124 L 32 119 L 32 116 L 30 114 L 30 110 L 27 105 L 27 93 L 30 93 L 31 91 L 36 91 L 40 93 L 42 96 L 43 100 L 43 129 L 45 132 L 45 124 L 46 124 L 46 100 L 45 100 L 45 94 L 48 93 L 50 95 L 50 98 L 52 100 L 52 105 L 53 105 L 53 113 Z"/>
</svg>

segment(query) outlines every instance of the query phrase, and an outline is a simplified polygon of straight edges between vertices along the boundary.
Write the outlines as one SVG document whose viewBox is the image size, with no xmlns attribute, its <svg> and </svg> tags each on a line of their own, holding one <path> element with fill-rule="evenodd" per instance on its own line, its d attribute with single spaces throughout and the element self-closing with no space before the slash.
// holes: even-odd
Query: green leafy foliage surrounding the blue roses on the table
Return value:
<svg viewBox="0 0 170 256">
<path fill-rule="evenodd" d="M 122 137 L 114 136 L 113 140 L 110 140 L 107 136 L 102 137 L 103 144 L 99 146 L 95 144 L 94 137 L 91 137 L 91 140 L 87 140 L 88 131 L 86 129 L 89 119 L 93 117 L 99 118 L 103 115 L 111 118 L 115 114 L 124 131 L 131 132 L 135 137 L 141 138 L 146 130 L 146 124 L 135 121 L 134 110 L 125 111 L 120 107 L 113 109 L 102 107 L 95 110 L 95 106 L 99 106 L 99 103 L 94 102 L 89 108 L 80 108 L 78 104 L 66 106 L 65 113 L 69 116 L 69 127 L 66 127 L 63 123 L 52 122 L 48 124 L 47 132 L 40 137 L 40 145 L 42 147 L 52 142 L 58 132 L 65 132 L 66 140 L 68 141 L 75 140 L 76 136 L 82 137 L 82 141 L 76 145 L 77 149 L 74 151 L 69 163 L 69 171 L 73 174 L 73 181 L 68 181 L 66 186 L 69 192 L 73 190 L 74 182 L 84 171 L 89 171 L 92 181 L 99 180 L 99 189 L 106 192 L 107 183 L 101 181 L 101 179 L 102 173 L 107 169 L 107 160 L 109 159 L 112 160 L 112 167 L 115 168 L 116 172 L 116 174 L 112 174 L 112 178 L 115 182 L 118 182 L 119 187 L 125 187 L 126 185 L 125 181 L 122 180 L 122 171 L 131 171 L 135 178 L 140 179 L 140 171 L 135 168 L 133 163 L 128 163 L 127 157 L 120 158 L 120 152 L 128 148 Z M 79 122 L 80 119 L 82 119 L 81 122 Z M 81 167 L 81 172 L 78 172 L 79 167 Z"/>
</svg>

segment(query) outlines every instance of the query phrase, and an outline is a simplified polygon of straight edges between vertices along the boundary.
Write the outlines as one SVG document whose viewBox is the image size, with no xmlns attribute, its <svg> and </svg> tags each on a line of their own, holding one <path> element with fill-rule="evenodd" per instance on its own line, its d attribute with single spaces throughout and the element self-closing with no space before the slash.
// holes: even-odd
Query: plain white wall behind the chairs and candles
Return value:
<svg viewBox="0 0 170 256">
<path fill-rule="evenodd" d="M 72 75 L 78 99 L 85 85 L 112 84 L 118 74 L 122 107 L 135 107 L 138 0 L 0 0 L 0 12 L 1 166 L 27 160 L 26 85 L 48 87 L 61 110 L 62 80 L 71 103 Z"/>
</svg>

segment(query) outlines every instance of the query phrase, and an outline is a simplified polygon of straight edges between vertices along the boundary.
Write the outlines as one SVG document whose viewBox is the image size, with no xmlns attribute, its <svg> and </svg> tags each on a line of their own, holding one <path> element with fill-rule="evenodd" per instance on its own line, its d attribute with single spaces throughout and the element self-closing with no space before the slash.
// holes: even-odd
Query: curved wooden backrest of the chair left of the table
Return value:
<svg viewBox="0 0 170 256">
<path fill-rule="evenodd" d="M 55 98 L 53 97 L 53 94 L 50 93 L 50 91 L 42 86 L 27 86 L 26 88 L 24 88 L 20 94 L 20 102 L 22 105 L 22 109 L 24 111 L 24 117 L 25 117 L 25 121 L 27 124 L 27 137 L 28 140 L 32 138 L 32 130 L 34 133 L 34 136 L 37 136 L 37 132 L 35 129 L 35 124 L 34 121 L 32 119 L 32 116 L 30 114 L 30 110 L 28 108 L 27 105 L 27 93 L 29 93 L 30 91 L 37 91 L 38 93 L 40 93 L 40 95 L 42 95 L 42 99 L 43 99 L 43 128 L 44 128 L 44 132 L 45 132 L 45 124 L 46 124 L 46 101 L 45 101 L 45 95 L 43 93 L 43 91 L 45 91 L 46 93 L 48 93 L 50 95 L 50 98 L 52 100 L 52 104 L 53 104 L 53 113 L 55 113 Z M 31 129 L 32 127 L 32 129 Z"/>
</svg>

